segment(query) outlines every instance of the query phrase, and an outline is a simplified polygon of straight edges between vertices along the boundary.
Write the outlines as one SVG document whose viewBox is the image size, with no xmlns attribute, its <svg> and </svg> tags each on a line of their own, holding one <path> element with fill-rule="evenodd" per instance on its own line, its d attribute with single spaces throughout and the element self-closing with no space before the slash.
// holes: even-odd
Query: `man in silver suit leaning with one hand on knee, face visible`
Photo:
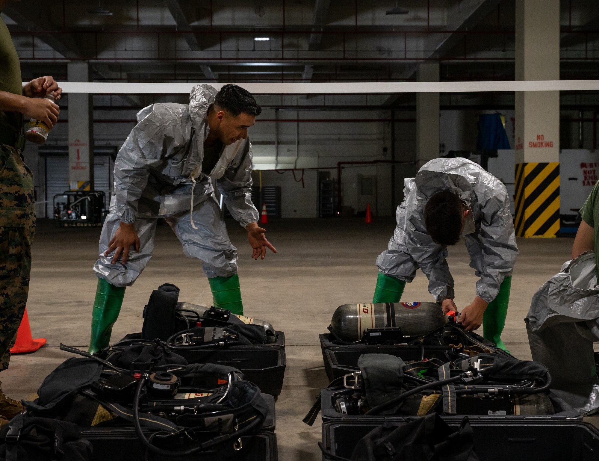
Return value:
<svg viewBox="0 0 599 461">
<path fill-rule="evenodd" d="M 89 352 L 107 347 L 119 316 L 125 287 L 152 257 L 156 221 L 165 218 L 183 253 L 203 262 L 214 305 L 243 314 L 237 275 L 237 248 L 226 231 L 211 178 L 232 216 L 247 230 L 252 257 L 276 253 L 258 226 L 252 204 L 252 144 L 247 129 L 262 109 L 236 85 L 217 93 L 193 87 L 189 105 L 152 104 L 114 164 L 114 195 L 93 266 L 98 289 L 93 303 Z"/>
</svg>

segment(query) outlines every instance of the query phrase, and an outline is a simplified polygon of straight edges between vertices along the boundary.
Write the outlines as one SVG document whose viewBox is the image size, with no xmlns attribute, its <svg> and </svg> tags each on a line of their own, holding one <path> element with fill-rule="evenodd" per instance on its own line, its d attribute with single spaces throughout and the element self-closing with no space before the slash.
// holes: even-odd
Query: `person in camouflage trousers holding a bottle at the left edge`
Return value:
<svg viewBox="0 0 599 461">
<path fill-rule="evenodd" d="M 0 11 L 6 0 L 0 0 Z M 31 242 L 35 233 L 34 178 L 22 154 L 23 116 L 41 120 L 50 129 L 59 108 L 49 99 L 62 90 L 50 76 L 23 86 L 19 56 L 0 18 L 0 371 L 8 368 L 10 348 L 25 312 L 29 293 Z M 0 389 L 0 426 L 23 406 Z"/>
</svg>

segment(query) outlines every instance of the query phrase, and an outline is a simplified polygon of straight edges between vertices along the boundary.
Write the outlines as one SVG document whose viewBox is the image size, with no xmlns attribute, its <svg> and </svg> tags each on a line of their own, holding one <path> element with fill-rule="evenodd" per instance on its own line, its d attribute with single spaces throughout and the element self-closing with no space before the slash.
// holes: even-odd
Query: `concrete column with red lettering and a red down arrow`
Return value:
<svg viewBox="0 0 599 461">
<path fill-rule="evenodd" d="M 66 65 L 68 81 L 89 81 L 87 62 Z M 93 190 L 92 95 L 69 93 L 69 183 L 71 190 Z"/>
</svg>

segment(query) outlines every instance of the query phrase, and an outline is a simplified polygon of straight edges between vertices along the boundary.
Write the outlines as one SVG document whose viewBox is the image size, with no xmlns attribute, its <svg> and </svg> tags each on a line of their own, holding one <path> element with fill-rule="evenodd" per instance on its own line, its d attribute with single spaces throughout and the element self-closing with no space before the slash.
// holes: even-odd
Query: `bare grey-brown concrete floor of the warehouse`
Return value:
<svg viewBox="0 0 599 461">
<path fill-rule="evenodd" d="M 267 236 L 279 253 L 265 260 L 250 258 L 245 232 L 228 222 L 239 250 L 239 274 L 246 314 L 271 322 L 286 335 L 285 386 L 277 401 L 279 459 L 320 460 L 316 445 L 320 424 L 302 423 L 319 389 L 328 384 L 318 334 L 326 332 L 340 304 L 369 302 L 377 269 L 374 260 L 386 248 L 392 220 L 364 224 L 361 219 L 271 220 Z M 96 278 L 99 228 L 56 229 L 41 221 L 34 243 L 28 311 L 34 337 L 48 344 L 34 354 L 13 356 L 2 373 L 2 387 L 14 398 L 31 398 L 43 378 L 71 354 L 60 342 L 81 348 L 89 341 L 89 324 Z M 531 298 L 547 278 L 570 259 L 573 240 L 518 239 L 520 256 L 512 280 L 512 297 L 503 338 L 515 356 L 530 359 L 524 326 Z M 456 281 L 456 304 L 470 304 L 475 295 L 473 269 L 463 244 L 450 248 L 449 266 Z M 180 301 L 210 305 L 211 294 L 201 266 L 184 257 L 168 226 L 158 227 L 155 254 L 125 295 L 113 339 L 141 330 L 141 311 L 153 289 L 162 283 L 181 289 Z M 419 274 L 406 286 L 403 301 L 428 301 L 426 277 Z"/>
</svg>

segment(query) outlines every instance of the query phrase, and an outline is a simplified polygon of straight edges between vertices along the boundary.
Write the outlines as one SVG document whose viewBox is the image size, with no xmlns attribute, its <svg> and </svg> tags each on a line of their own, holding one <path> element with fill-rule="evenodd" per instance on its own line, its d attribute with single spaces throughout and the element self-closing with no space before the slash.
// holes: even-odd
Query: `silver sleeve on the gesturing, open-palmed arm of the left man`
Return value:
<svg viewBox="0 0 599 461">
<path fill-rule="evenodd" d="M 252 144 L 248 139 L 216 184 L 231 216 L 243 228 L 258 222 L 260 214 L 252 203 Z"/>
</svg>

